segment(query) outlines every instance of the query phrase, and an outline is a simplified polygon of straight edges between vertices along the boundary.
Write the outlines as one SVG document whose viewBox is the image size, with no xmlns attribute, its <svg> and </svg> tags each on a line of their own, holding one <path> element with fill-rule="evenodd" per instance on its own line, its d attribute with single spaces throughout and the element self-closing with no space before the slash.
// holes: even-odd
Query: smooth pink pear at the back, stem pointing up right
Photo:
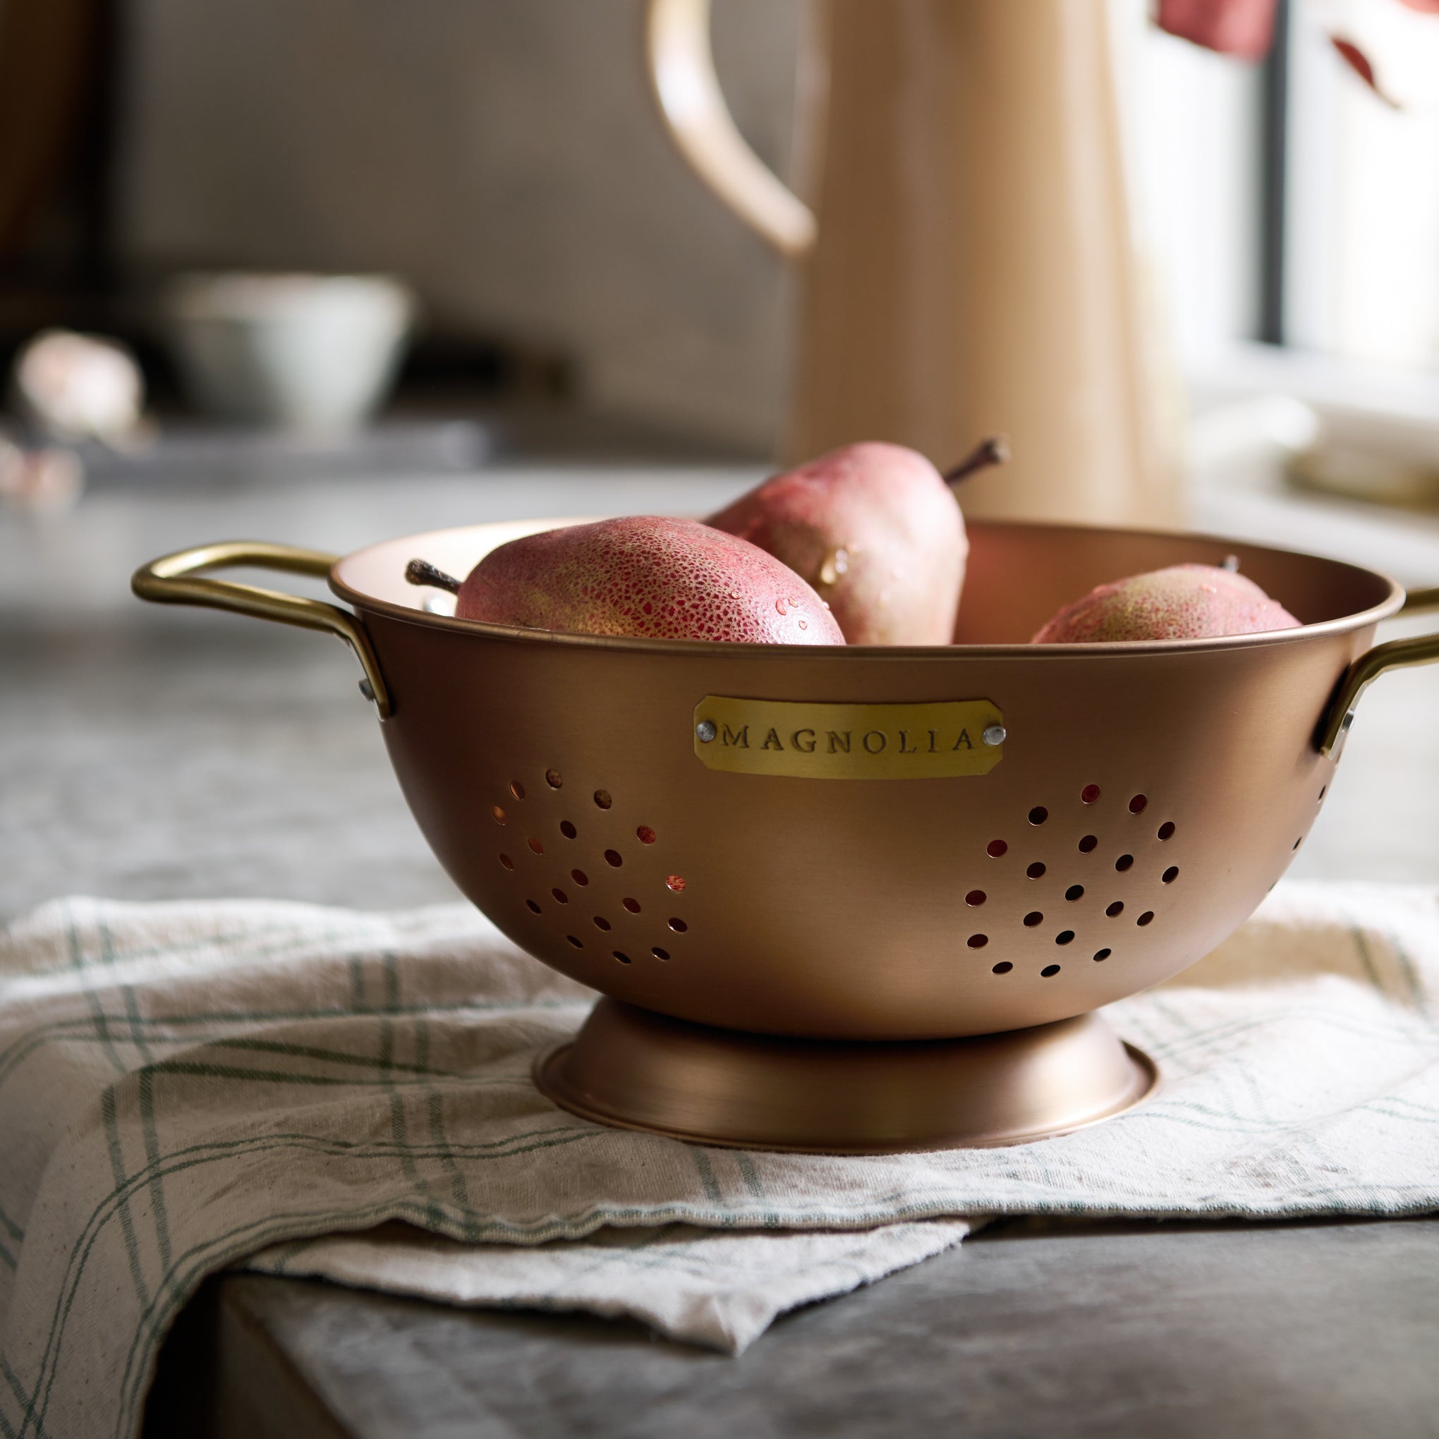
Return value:
<svg viewBox="0 0 1439 1439">
<path fill-rule="evenodd" d="M 945 479 L 1006 458 L 989 440 L 948 476 L 902 445 L 846 445 L 711 515 L 806 578 L 850 645 L 948 645 L 968 540 Z"/>
</svg>

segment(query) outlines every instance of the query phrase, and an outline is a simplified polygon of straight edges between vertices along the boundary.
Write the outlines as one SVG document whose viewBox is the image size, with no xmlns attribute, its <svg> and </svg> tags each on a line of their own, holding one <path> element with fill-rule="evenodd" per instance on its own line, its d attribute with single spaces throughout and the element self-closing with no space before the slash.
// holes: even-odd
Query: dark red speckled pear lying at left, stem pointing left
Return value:
<svg viewBox="0 0 1439 1439">
<path fill-rule="evenodd" d="M 406 577 L 453 590 L 465 620 L 645 639 L 845 643 L 793 570 L 694 519 L 567 525 L 491 550 L 463 584 L 423 560 L 410 561 Z"/>
</svg>

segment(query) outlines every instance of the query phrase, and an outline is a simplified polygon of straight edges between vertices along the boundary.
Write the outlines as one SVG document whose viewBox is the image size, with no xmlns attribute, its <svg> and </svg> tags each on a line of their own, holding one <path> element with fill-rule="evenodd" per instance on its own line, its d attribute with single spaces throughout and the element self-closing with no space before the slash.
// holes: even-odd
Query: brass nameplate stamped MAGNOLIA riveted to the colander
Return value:
<svg viewBox="0 0 1439 1439">
<path fill-rule="evenodd" d="M 932 780 L 989 774 L 1003 755 L 1003 725 L 989 699 L 825 705 L 707 695 L 695 705 L 695 754 L 734 774 Z"/>
</svg>

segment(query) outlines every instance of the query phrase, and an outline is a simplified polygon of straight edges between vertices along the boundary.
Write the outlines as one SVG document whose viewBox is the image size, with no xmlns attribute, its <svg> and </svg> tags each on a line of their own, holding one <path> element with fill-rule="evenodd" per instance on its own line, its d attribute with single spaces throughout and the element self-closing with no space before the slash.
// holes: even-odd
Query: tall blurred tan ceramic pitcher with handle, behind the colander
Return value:
<svg viewBox="0 0 1439 1439">
<path fill-rule="evenodd" d="M 966 511 L 1174 517 L 1105 0 L 813 0 L 813 210 L 735 130 L 709 0 L 646 3 L 681 151 L 803 266 L 790 459 L 886 439 L 943 468 L 1006 432 Z"/>
</svg>

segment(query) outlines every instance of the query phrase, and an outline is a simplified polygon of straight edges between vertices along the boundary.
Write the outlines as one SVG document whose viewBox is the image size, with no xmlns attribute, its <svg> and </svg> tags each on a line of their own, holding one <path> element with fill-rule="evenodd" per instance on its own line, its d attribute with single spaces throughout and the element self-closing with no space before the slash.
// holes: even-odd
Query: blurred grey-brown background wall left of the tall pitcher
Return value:
<svg viewBox="0 0 1439 1439">
<path fill-rule="evenodd" d="M 800 24 L 715 13 L 781 174 Z M 663 134 L 630 0 L 135 0 L 128 43 L 128 266 L 393 271 L 432 327 L 567 357 L 600 409 L 770 449 L 789 276 Z"/>
</svg>

